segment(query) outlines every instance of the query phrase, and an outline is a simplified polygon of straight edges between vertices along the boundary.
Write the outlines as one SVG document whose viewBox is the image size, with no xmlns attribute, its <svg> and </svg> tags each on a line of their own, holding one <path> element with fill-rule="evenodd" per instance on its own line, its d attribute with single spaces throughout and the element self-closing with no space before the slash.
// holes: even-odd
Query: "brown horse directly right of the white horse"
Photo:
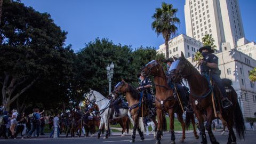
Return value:
<svg viewBox="0 0 256 144">
<path fill-rule="evenodd" d="M 143 95 L 138 93 L 136 89 L 134 89 L 125 81 L 121 81 L 115 86 L 114 93 L 117 94 L 119 92 L 125 93 L 126 100 L 129 104 L 130 114 L 132 115 L 132 119 L 134 121 L 133 133 L 130 142 L 134 142 L 135 140 L 136 129 L 140 134 L 141 140 L 144 140 L 143 132 L 140 130 L 140 127 L 138 127 L 138 123 L 139 117 L 145 117 L 149 113 L 149 109 L 147 108 L 147 101 L 144 99 Z M 157 126 L 156 116 L 154 116 L 152 120 Z"/>
</svg>

